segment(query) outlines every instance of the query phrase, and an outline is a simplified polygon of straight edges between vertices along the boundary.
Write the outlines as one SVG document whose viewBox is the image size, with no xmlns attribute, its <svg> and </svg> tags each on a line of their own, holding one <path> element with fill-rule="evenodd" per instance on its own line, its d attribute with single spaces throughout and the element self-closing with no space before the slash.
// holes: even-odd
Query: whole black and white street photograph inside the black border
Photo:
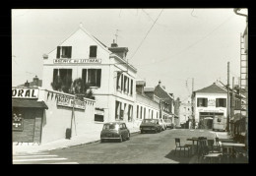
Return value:
<svg viewBox="0 0 256 176">
<path fill-rule="evenodd" d="M 247 8 L 11 9 L 12 164 L 249 163 Z"/>
</svg>

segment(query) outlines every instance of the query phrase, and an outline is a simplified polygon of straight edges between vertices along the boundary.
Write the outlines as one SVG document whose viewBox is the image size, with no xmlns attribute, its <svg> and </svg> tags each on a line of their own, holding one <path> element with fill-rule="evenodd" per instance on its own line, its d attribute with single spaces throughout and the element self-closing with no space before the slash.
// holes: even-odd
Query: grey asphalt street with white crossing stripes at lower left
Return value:
<svg viewBox="0 0 256 176">
<path fill-rule="evenodd" d="M 55 149 L 41 153 L 13 156 L 14 164 L 87 164 L 87 163 L 189 163 L 191 157 L 177 152 L 174 155 L 174 138 L 181 145 L 192 144 L 190 137 L 215 138 L 208 130 L 174 129 L 157 134 L 134 134 L 123 143 L 106 142 Z"/>
</svg>

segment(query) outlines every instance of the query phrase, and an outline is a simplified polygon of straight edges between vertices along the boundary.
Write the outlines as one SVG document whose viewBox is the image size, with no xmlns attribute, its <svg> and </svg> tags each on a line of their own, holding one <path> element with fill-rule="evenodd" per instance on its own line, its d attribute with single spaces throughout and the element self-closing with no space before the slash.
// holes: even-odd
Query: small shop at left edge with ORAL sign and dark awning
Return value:
<svg viewBox="0 0 256 176">
<path fill-rule="evenodd" d="M 44 101 L 38 101 L 38 88 L 12 88 L 13 142 L 40 143 Z"/>
</svg>

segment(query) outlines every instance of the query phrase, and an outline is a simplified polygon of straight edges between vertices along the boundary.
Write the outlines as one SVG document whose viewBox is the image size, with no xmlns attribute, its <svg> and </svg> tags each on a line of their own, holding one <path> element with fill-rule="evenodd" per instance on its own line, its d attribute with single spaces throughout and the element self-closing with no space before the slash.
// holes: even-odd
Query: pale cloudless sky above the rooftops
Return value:
<svg viewBox="0 0 256 176">
<path fill-rule="evenodd" d="M 243 9 L 240 13 L 247 14 Z M 106 46 L 117 39 L 146 87 L 161 85 L 181 100 L 217 80 L 240 75 L 240 33 L 233 9 L 13 9 L 12 86 L 42 79 L 42 55 L 80 24 Z M 116 36 L 117 34 L 117 36 Z"/>
</svg>

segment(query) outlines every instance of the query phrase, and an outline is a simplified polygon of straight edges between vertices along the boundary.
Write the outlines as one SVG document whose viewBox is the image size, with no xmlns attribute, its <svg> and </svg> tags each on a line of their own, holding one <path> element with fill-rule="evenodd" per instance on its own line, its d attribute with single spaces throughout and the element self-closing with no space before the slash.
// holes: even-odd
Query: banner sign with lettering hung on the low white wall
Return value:
<svg viewBox="0 0 256 176">
<path fill-rule="evenodd" d="M 74 97 L 66 96 L 66 95 L 58 95 L 57 96 L 57 105 L 73 107 Z M 74 107 L 78 109 L 86 109 L 86 102 L 80 99 L 76 99 L 74 103 Z"/>
</svg>

